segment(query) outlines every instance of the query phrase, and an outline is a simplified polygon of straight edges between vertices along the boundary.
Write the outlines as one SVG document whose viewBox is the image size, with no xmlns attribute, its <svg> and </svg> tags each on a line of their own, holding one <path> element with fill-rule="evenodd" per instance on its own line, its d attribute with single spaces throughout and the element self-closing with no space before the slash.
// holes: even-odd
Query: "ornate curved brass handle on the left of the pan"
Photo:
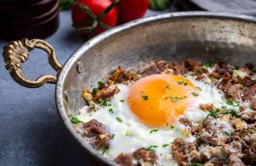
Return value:
<svg viewBox="0 0 256 166">
<path fill-rule="evenodd" d="M 29 51 L 34 50 L 34 48 L 42 49 L 48 53 L 48 62 L 57 72 L 56 75 L 42 75 L 36 80 L 29 80 L 23 75 L 20 63 L 28 60 Z M 27 38 L 23 38 L 21 41 L 9 42 L 7 46 L 3 47 L 3 50 L 4 62 L 7 63 L 5 68 L 9 70 L 11 77 L 18 84 L 28 88 L 38 88 L 46 83 L 56 84 L 63 65 L 58 62 L 55 51 L 49 43 L 40 39 L 28 40 Z"/>
</svg>

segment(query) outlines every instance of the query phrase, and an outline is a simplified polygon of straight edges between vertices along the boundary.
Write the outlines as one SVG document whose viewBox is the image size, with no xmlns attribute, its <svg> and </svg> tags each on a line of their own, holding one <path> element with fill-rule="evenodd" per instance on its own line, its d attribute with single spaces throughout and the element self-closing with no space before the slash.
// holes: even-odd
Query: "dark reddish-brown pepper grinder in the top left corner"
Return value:
<svg viewBox="0 0 256 166">
<path fill-rule="evenodd" d="M 0 38 L 44 39 L 59 24 L 58 0 L 0 0 Z"/>
</svg>

